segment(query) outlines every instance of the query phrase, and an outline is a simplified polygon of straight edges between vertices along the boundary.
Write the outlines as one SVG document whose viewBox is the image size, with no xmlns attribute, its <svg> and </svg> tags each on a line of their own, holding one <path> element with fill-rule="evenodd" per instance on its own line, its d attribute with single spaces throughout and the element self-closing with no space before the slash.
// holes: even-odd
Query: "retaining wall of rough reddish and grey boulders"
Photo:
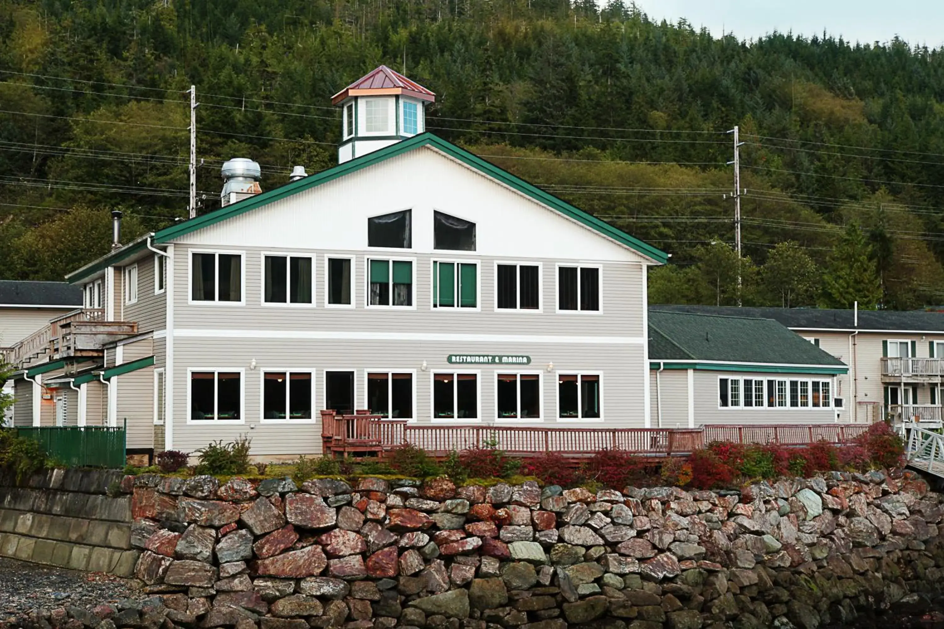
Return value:
<svg viewBox="0 0 944 629">
<path fill-rule="evenodd" d="M 62 610 L 59 624 L 816 629 L 944 586 L 944 497 L 911 472 L 740 492 L 155 475 L 122 487 L 151 598 Z"/>
</svg>

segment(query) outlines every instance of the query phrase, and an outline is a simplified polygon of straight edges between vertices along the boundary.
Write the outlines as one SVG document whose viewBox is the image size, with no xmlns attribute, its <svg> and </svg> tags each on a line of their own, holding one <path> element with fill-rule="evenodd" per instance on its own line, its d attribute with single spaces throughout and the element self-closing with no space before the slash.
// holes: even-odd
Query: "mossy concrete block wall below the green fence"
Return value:
<svg viewBox="0 0 944 629">
<path fill-rule="evenodd" d="M 51 470 L 0 475 L 0 556 L 130 576 L 131 498 L 109 495 L 122 472 Z"/>
</svg>

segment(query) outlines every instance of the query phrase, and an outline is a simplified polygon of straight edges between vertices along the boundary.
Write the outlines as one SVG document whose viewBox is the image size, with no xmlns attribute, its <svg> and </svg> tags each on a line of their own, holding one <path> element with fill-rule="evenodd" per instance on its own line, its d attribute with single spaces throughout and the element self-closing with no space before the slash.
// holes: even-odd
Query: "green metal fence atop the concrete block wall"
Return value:
<svg viewBox="0 0 944 629">
<path fill-rule="evenodd" d="M 36 439 L 48 455 L 69 467 L 125 467 L 126 426 L 18 427 L 16 433 Z"/>
</svg>

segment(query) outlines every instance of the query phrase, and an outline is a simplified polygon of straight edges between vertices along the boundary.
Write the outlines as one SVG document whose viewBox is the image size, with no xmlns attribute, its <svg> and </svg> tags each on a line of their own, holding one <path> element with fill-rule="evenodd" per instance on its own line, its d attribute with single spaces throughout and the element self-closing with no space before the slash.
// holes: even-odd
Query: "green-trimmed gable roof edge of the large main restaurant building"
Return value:
<svg viewBox="0 0 944 629">
<path fill-rule="evenodd" d="M 514 174 L 511 174 L 508 171 L 498 168 L 495 164 L 488 162 L 481 157 L 477 157 L 465 149 L 460 148 L 451 142 L 445 141 L 442 138 L 434 136 L 431 133 L 421 133 L 417 136 L 413 136 L 413 138 L 410 138 L 409 140 L 398 141 L 394 144 L 374 151 L 373 153 L 368 153 L 362 157 L 356 157 L 350 161 L 346 161 L 343 164 L 338 164 L 337 166 L 329 168 L 326 171 L 322 171 L 321 173 L 310 174 L 307 177 L 303 177 L 297 181 L 289 182 L 283 186 L 279 186 L 278 188 L 266 190 L 260 194 L 255 194 L 226 207 L 220 207 L 219 209 L 213 210 L 207 214 L 203 214 L 202 216 L 197 216 L 196 218 L 190 219 L 189 221 L 183 221 L 181 223 L 170 225 L 169 227 L 164 227 L 157 232 L 148 234 L 138 240 L 135 240 L 134 242 L 126 244 L 124 247 L 111 252 L 105 257 L 100 257 L 97 260 L 90 262 L 73 273 L 69 273 L 66 275 L 66 280 L 69 282 L 81 281 L 86 277 L 89 277 L 95 273 L 99 273 L 112 264 L 116 264 L 128 257 L 135 256 L 147 249 L 148 240 L 152 240 L 155 244 L 170 242 L 171 240 L 178 239 L 198 229 L 203 229 L 204 227 L 209 227 L 216 223 L 222 223 L 223 221 L 226 221 L 227 219 L 234 216 L 239 216 L 240 214 L 244 214 L 245 212 L 258 207 L 266 206 L 270 203 L 273 203 L 274 201 L 278 201 L 279 199 L 284 199 L 285 197 L 297 194 L 298 192 L 317 188 L 321 184 L 333 181 L 338 177 L 342 177 L 346 174 L 356 173 L 364 168 L 367 168 L 368 166 L 379 164 L 390 157 L 396 157 L 398 155 L 402 155 L 425 146 L 435 149 L 447 157 L 452 157 L 464 163 L 466 166 L 479 171 L 481 174 L 495 179 L 498 183 L 504 184 L 509 188 L 524 194 L 525 196 L 531 197 L 532 200 L 547 206 L 559 212 L 560 214 L 563 214 L 565 217 L 576 221 L 577 223 L 582 223 L 584 226 L 598 232 L 601 236 L 613 240 L 617 244 L 620 244 L 628 249 L 632 249 L 636 253 L 648 257 L 658 264 L 665 264 L 666 260 L 668 259 L 668 256 L 665 252 L 656 249 L 652 245 L 647 244 L 642 240 L 633 238 L 626 232 L 617 229 L 609 223 L 599 220 L 597 217 L 584 212 L 578 207 L 571 206 L 569 203 L 557 198 L 553 194 L 531 185 L 524 179 L 516 177 Z"/>
</svg>

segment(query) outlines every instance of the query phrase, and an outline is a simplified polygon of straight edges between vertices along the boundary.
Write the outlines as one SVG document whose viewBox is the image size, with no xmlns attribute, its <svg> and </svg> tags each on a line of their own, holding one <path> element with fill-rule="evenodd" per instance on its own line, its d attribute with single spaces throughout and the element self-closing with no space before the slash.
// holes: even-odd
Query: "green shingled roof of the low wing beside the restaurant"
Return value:
<svg viewBox="0 0 944 629">
<path fill-rule="evenodd" d="M 658 307 L 649 308 L 649 360 L 846 366 L 772 319 L 672 312 Z"/>
</svg>

